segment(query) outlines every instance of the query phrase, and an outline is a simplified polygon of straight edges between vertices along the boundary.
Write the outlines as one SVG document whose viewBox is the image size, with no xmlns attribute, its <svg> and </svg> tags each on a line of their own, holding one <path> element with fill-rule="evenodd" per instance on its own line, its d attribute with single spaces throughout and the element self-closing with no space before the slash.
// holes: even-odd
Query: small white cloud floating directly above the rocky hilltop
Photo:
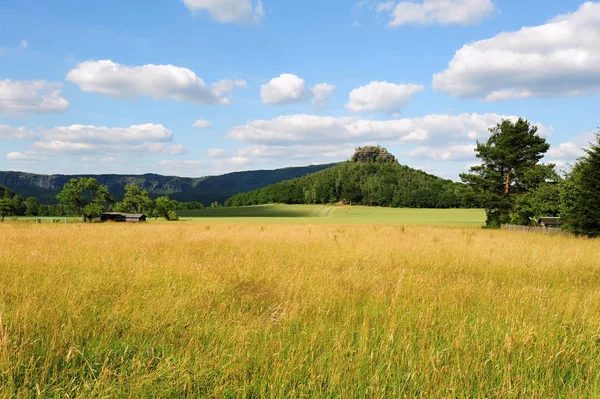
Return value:
<svg viewBox="0 0 600 399">
<path fill-rule="evenodd" d="M 400 111 L 423 90 L 423 86 L 416 84 L 374 81 L 352 90 L 346 109 L 352 112 Z"/>
</svg>

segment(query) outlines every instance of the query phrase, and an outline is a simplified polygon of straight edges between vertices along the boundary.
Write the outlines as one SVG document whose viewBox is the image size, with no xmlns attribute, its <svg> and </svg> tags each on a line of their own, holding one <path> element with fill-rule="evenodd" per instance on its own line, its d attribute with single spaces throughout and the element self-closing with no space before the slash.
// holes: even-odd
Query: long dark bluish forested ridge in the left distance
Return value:
<svg viewBox="0 0 600 399">
<path fill-rule="evenodd" d="M 38 175 L 24 172 L 0 172 L 0 185 L 24 198 L 35 197 L 41 203 L 57 203 L 56 194 L 72 178 L 94 177 L 108 187 L 116 200 L 120 200 L 127 184 L 136 184 L 150 193 L 151 197 L 169 195 L 171 199 L 188 202 L 198 201 L 209 205 L 213 201 L 224 202 L 240 192 L 265 187 L 283 180 L 304 176 L 335 164 L 311 165 L 275 170 L 235 172 L 221 176 L 188 178 L 177 176 L 145 175 Z"/>
</svg>

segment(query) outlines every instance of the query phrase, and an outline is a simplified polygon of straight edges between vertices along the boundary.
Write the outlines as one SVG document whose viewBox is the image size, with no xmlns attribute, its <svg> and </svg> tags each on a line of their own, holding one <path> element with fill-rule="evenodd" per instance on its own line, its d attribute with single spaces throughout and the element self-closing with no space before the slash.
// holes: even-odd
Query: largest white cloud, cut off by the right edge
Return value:
<svg viewBox="0 0 600 399">
<path fill-rule="evenodd" d="M 467 44 L 433 78 L 436 90 L 486 101 L 600 91 L 600 3 L 547 24 Z"/>
</svg>

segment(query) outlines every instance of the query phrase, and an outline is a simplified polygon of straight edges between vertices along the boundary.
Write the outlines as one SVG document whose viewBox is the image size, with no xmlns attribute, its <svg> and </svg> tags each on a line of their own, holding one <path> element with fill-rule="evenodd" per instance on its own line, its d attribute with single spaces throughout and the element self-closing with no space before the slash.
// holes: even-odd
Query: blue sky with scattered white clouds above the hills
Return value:
<svg viewBox="0 0 600 399">
<path fill-rule="evenodd" d="M 456 179 L 502 119 L 600 125 L 600 3 L 0 2 L 0 170 L 203 176 L 382 144 Z"/>
</svg>

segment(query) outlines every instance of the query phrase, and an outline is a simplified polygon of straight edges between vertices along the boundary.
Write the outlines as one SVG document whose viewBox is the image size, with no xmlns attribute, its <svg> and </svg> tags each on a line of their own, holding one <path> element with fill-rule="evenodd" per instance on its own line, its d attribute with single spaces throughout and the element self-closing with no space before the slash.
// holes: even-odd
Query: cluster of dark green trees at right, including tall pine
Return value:
<svg viewBox="0 0 600 399">
<path fill-rule="evenodd" d="M 564 176 L 540 162 L 550 144 L 529 121 L 503 121 L 490 132 L 486 142 L 477 142 L 481 163 L 461 174 L 485 208 L 486 227 L 535 225 L 556 216 L 567 231 L 600 236 L 600 132 Z"/>
</svg>

